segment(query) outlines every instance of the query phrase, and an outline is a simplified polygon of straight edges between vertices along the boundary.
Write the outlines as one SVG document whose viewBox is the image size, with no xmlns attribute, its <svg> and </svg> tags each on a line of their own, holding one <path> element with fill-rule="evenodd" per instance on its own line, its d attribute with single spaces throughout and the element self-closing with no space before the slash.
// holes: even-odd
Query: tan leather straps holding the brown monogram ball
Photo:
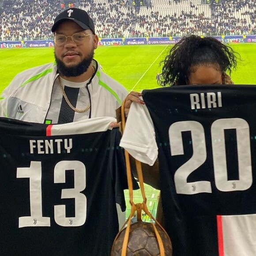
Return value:
<svg viewBox="0 0 256 256">
<path fill-rule="evenodd" d="M 125 101 L 124 101 L 125 102 Z M 125 128 L 125 115 L 124 115 L 124 102 L 121 106 L 121 130 L 124 132 Z M 160 237 L 160 234 L 156 228 L 156 225 L 153 223 L 152 220 L 166 233 L 166 231 L 163 229 L 163 227 L 159 224 L 159 222 L 151 215 L 150 211 L 147 208 L 147 198 L 145 195 L 145 190 L 144 190 L 144 184 L 143 184 L 143 173 L 142 173 L 142 166 L 141 162 L 136 160 L 136 169 L 138 173 L 138 179 L 139 179 L 139 186 L 140 186 L 140 192 L 143 197 L 143 202 L 142 203 L 134 203 L 133 202 L 133 186 L 132 186 L 132 171 L 131 171 L 131 163 L 130 163 L 130 158 L 129 158 L 129 153 L 124 150 L 125 154 L 125 162 L 126 162 L 126 170 L 127 170 L 127 180 L 128 180 L 128 189 L 129 189 L 129 197 L 130 197 L 130 204 L 132 206 L 131 208 L 131 213 L 127 219 L 127 221 L 124 223 L 122 229 L 127 223 L 127 227 L 125 230 L 124 234 L 124 242 L 123 242 L 123 247 L 122 247 L 122 254 L 121 256 L 126 256 L 127 253 L 127 246 L 128 246 L 128 241 L 129 241 L 129 233 L 130 233 L 130 226 L 131 226 L 131 218 L 134 215 L 135 211 L 137 211 L 137 218 L 139 221 L 141 221 L 141 211 L 143 210 L 150 218 L 151 218 L 151 224 L 154 229 L 154 233 L 156 235 L 157 241 L 158 241 L 158 246 L 159 246 L 159 251 L 160 251 L 160 256 L 165 256 L 165 249 L 163 246 L 162 238 Z M 122 230 L 121 229 L 121 230 Z M 167 233 L 166 233 L 167 235 Z M 167 235 L 168 236 L 168 235 Z M 117 239 L 117 237 L 116 237 Z M 115 239 L 115 241 L 116 241 Z"/>
</svg>

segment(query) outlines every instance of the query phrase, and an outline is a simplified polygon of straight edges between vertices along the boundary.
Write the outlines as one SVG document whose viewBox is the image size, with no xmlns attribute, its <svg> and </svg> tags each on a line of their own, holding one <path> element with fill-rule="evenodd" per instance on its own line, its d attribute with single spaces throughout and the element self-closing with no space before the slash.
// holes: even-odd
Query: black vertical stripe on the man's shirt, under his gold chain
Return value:
<svg viewBox="0 0 256 256">
<path fill-rule="evenodd" d="M 73 87 L 64 87 L 65 93 L 68 97 L 69 102 L 72 106 L 76 106 L 76 102 L 78 99 L 79 88 Z M 58 124 L 67 124 L 72 123 L 74 121 L 75 111 L 71 109 L 68 105 L 64 96 L 62 97 L 61 106 L 60 106 L 60 115 L 58 119 Z"/>
</svg>

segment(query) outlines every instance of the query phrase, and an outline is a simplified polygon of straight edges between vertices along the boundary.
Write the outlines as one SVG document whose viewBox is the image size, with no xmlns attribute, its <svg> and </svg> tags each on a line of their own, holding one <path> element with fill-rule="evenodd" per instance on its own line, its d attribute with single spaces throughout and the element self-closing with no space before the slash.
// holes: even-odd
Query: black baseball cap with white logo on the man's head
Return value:
<svg viewBox="0 0 256 256">
<path fill-rule="evenodd" d="M 93 34 L 95 34 L 94 22 L 88 15 L 88 13 L 82 9 L 78 8 L 69 8 L 63 12 L 61 12 L 54 20 L 54 24 L 52 26 L 52 32 L 54 33 L 57 29 L 57 26 L 64 20 L 72 20 L 76 24 L 78 24 L 84 30 L 90 29 Z"/>
</svg>

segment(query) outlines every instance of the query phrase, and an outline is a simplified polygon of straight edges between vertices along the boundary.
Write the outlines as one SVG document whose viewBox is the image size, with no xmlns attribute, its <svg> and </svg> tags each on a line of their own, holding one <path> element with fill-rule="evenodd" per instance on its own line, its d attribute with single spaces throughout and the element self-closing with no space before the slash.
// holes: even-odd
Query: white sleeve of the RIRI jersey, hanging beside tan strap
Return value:
<svg viewBox="0 0 256 256">
<path fill-rule="evenodd" d="M 120 146 L 140 162 L 152 166 L 156 161 L 154 124 L 146 105 L 132 103 Z"/>
</svg>

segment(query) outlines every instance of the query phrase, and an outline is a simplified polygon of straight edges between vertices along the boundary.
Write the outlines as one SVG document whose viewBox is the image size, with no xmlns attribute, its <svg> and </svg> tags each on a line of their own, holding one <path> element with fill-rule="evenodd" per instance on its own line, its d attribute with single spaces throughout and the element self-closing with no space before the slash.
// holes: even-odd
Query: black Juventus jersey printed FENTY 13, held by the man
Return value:
<svg viewBox="0 0 256 256">
<path fill-rule="evenodd" d="M 110 255 L 127 188 L 114 121 L 0 118 L 0 255 Z"/>
</svg>

